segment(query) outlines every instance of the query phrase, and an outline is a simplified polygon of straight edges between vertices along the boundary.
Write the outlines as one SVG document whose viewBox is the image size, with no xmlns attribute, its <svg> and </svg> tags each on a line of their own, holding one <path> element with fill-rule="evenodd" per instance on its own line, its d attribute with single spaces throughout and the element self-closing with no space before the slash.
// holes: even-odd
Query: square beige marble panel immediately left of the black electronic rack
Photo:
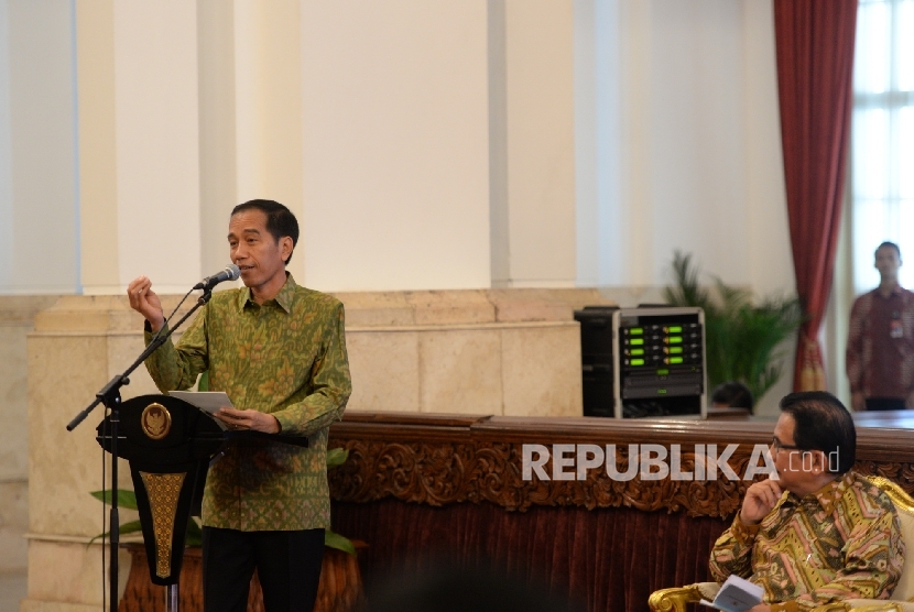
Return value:
<svg viewBox="0 0 914 612">
<path fill-rule="evenodd" d="M 576 323 L 501 331 L 505 416 L 581 416 L 580 330 Z"/>
</svg>

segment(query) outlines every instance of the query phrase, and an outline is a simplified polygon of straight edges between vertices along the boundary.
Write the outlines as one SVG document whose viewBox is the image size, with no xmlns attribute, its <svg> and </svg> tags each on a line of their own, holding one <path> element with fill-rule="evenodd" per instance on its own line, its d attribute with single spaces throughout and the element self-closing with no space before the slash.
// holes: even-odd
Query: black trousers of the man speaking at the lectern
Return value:
<svg viewBox="0 0 914 612">
<path fill-rule="evenodd" d="M 311 612 L 323 558 L 324 529 L 239 532 L 204 527 L 204 610 L 246 612 L 257 569 L 266 612 Z"/>
</svg>

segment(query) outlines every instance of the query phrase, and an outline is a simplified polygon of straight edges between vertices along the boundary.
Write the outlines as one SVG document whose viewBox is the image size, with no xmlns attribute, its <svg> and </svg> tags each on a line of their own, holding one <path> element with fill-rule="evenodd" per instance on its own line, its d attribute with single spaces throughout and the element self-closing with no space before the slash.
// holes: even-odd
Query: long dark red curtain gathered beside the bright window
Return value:
<svg viewBox="0 0 914 612">
<path fill-rule="evenodd" d="M 852 103 L 857 0 L 774 0 L 784 178 L 799 329 L 794 390 L 825 389 L 818 331 L 831 291 Z"/>
</svg>

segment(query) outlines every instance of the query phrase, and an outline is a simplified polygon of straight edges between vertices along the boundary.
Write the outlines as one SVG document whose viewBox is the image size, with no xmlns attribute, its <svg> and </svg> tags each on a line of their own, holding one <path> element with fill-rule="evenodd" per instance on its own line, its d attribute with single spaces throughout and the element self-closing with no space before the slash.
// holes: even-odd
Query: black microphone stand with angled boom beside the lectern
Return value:
<svg viewBox="0 0 914 612">
<path fill-rule="evenodd" d="M 118 547 L 120 546 L 120 518 L 118 516 L 118 422 L 120 420 L 120 390 L 123 385 L 130 384 L 130 379 L 128 379 L 128 376 L 133 373 L 133 370 L 139 368 L 149 356 L 155 352 L 159 347 L 164 345 L 165 340 L 167 340 L 172 334 L 181 327 L 185 320 L 187 320 L 187 317 L 193 315 L 197 308 L 209 302 L 209 298 L 213 297 L 213 287 L 204 286 L 203 289 L 203 295 L 197 298 L 197 303 L 194 307 L 191 308 L 174 327 L 170 327 L 165 334 L 157 336 L 152 342 L 150 342 L 145 350 L 140 353 L 140 357 L 137 358 L 137 361 L 130 365 L 130 368 L 124 370 L 122 374 L 118 374 L 111 379 L 108 384 L 102 386 L 101 390 L 95 394 L 95 402 L 86 406 L 86 408 L 77 414 L 67 425 L 67 431 L 73 431 L 99 404 L 105 404 L 105 406 L 111 411 L 111 510 L 108 516 L 108 523 L 110 525 L 108 529 L 110 533 L 109 551 L 111 556 L 108 575 L 108 603 L 110 612 L 118 612 Z M 167 603 L 173 603 L 174 610 L 177 610 L 177 589 L 173 589 L 172 587 L 176 587 L 176 584 L 167 587 Z M 168 610 L 172 610 L 171 605 L 168 605 Z"/>
</svg>

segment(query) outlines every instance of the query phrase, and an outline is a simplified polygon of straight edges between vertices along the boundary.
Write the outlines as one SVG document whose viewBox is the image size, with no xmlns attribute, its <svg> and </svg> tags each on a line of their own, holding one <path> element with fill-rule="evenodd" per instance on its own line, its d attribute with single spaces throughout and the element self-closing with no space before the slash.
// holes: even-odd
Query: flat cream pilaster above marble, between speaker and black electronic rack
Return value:
<svg viewBox="0 0 914 612">
<path fill-rule="evenodd" d="M 575 286 L 573 2 L 490 7 L 492 286 Z"/>
</svg>

